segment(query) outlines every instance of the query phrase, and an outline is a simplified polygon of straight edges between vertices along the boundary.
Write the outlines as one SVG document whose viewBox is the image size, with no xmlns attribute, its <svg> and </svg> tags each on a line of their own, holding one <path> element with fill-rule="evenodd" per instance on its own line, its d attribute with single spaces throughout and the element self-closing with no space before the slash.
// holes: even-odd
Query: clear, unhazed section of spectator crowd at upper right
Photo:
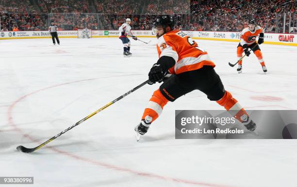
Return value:
<svg viewBox="0 0 297 187">
<path fill-rule="evenodd" d="M 255 18 L 265 31 L 274 32 L 283 27 L 280 21 L 283 13 L 291 12 L 294 16 L 296 7 L 294 0 L 191 0 L 190 27 L 203 31 L 241 31 L 247 27 L 248 19 Z M 291 23 L 294 24 L 296 19 Z"/>
</svg>

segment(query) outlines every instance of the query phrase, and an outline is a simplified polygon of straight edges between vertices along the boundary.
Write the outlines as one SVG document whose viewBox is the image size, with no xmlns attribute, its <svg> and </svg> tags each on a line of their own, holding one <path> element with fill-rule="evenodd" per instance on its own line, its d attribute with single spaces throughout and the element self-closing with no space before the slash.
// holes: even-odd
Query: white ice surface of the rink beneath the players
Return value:
<svg viewBox="0 0 297 187">
<path fill-rule="evenodd" d="M 34 187 L 296 187 L 297 140 L 175 140 L 175 109 L 222 109 L 200 92 L 168 103 L 137 143 L 133 130 L 158 85 L 136 92 L 35 147 L 144 82 L 156 39 L 0 40 L 0 176 L 34 176 Z M 268 73 L 252 54 L 236 62 L 234 42 L 196 40 L 226 90 L 246 109 L 297 109 L 297 48 L 261 45 Z M 21 185 L 19 185 L 21 186 Z M 28 185 L 23 185 L 27 187 Z"/>
</svg>

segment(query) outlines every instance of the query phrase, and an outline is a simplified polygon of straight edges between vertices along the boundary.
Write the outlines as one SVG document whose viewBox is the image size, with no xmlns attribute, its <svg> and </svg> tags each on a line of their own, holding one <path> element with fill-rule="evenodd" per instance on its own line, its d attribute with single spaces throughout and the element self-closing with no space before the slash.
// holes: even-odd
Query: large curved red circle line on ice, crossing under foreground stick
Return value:
<svg viewBox="0 0 297 187">
<path fill-rule="evenodd" d="M 113 76 L 113 77 L 115 77 L 115 76 Z M 122 76 L 118 76 L 118 77 L 122 77 Z M 26 138 L 32 140 L 33 142 L 38 142 L 38 140 L 34 140 L 30 135 L 24 133 L 22 131 L 22 129 L 18 128 L 17 125 L 14 123 L 14 121 L 13 121 L 13 109 L 16 107 L 16 104 L 18 102 L 20 102 L 21 100 L 25 99 L 26 97 L 32 95 L 32 94 L 36 94 L 38 92 L 45 91 L 45 90 L 50 89 L 50 88 L 63 86 L 63 85 L 67 85 L 67 84 L 72 84 L 72 83 L 77 83 L 77 82 L 82 82 L 82 81 L 87 81 L 87 80 L 93 80 L 93 79 L 96 79 L 96 78 L 78 80 L 78 81 L 67 82 L 67 83 L 58 84 L 58 85 L 54 85 L 54 86 L 49 86 L 49 87 L 34 91 L 34 92 L 30 93 L 30 94 L 23 95 L 22 97 L 18 98 L 15 102 L 13 102 L 9 106 L 8 111 L 7 111 L 8 123 L 10 125 L 12 125 L 16 131 L 18 131 L 20 134 L 22 134 L 23 137 L 26 137 Z M 42 142 L 39 142 L 39 143 L 41 144 Z M 227 186 L 223 186 L 223 185 L 196 182 L 196 181 L 189 181 L 189 180 L 178 179 L 178 178 L 173 178 L 173 177 L 166 177 L 166 176 L 157 175 L 157 174 L 148 173 L 148 172 L 131 170 L 131 169 L 122 168 L 122 167 L 118 167 L 118 166 L 115 166 L 115 165 L 99 162 L 97 160 L 92 160 L 92 159 L 85 158 L 85 157 L 82 157 L 82 156 L 77 156 L 77 155 L 74 155 L 74 154 L 71 154 L 71 153 L 68 153 L 68 152 L 65 152 L 65 151 L 58 150 L 58 149 L 56 149 L 54 147 L 51 147 L 51 146 L 46 146 L 46 148 L 49 148 L 49 149 L 51 149 L 52 151 L 54 151 L 56 153 L 66 155 L 66 156 L 72 157 L 72 158 L 77 159 L 77 160 L 82 160 L 82 161 L 85 161 L 85 162 L 88 162 L 88 163 L 92 163 L 92 164 L 95 164 L 97 166 L 105 167 L 105 168 L 108 168 L 108 169 L 113 169 L 115 171 L 125 171 L 125 172 L 129 172 L 129 173 L 139 175 L 139 176 L 145 176 L 145 177 L 161 179 L 161 180 L 166 180 L 166 181 L 172 181 L 172 182 L 177 182 L 177 183 L 183 183 L 183 184 L 189 184 L 189 185 L 199 185 L 199 186 L 206 186 L 206 187 L 227 187 Z"/>
</svg>

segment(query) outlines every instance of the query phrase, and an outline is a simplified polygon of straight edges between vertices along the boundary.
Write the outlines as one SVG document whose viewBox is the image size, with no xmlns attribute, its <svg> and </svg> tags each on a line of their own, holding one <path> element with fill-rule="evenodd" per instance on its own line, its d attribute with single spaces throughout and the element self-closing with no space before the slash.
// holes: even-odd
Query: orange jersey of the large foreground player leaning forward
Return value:
<svg viewBox="0 0 297 187">
<path fill-rule="evenodd" d="M 198 47 L 185 32 L 173 30 L 158 39 L 157 50 L 159 58 L 169 56 L 175 60 L 175 65 L 169 69 L 171 74 L 200 69 L 203 65 L 215 66 L 208 53 Z"/>
</svg>

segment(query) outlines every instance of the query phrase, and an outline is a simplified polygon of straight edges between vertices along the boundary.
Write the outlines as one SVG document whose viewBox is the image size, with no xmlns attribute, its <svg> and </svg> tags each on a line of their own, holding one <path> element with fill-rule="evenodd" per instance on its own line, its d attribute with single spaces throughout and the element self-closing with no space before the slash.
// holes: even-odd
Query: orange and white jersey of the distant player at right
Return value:
<svg viewBox="0 0 297 187">
<path fill-rule="evenodd" d="M 245 44 L 251 45 L 256 42 L 257 36 L 259 36 L 260 33 L 264 33 L 264 30 L 260 26 L 255 27 L 255 31 L 250 31 L 249 28 L 245 28 L 241 32 L 241 39 L 240 44 L 243 46 Z"/>
</svg>

